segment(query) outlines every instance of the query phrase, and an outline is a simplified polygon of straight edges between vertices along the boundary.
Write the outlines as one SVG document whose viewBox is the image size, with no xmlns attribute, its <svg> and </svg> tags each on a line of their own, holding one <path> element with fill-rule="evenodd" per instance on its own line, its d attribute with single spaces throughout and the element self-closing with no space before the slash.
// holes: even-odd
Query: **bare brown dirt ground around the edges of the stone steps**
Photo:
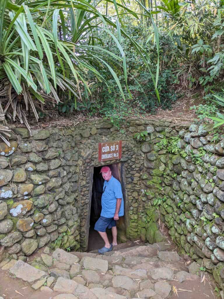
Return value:
<svg viewBox="0 0 224 299">
<path fill-rule="evenodd" d="M 162 223 L 160 229 L 164 236 L 168 235 L 168 232 L 165 226 L 163 227 Z M 178 251 L 177 246 L 171 242 L 171 239 L 168 236 L 166 238 L 167 243 L 170 244 L 169 251 Z M 119 244 L 117 248 L 114 248 L 114 250 L 140 245 L 145 244 L 140 240 L 128 241 L 126 243 Z M 44 248 L 41 248 L 38 252 L 31 255 L 29 257 L 29 261 L 36 257 L 40 257 L 43 250 Z M 174 273 L 177 273 L 178 271 L 187 271 L 187 266 L 191 262 L 192 261 L 188 256 L 182 256 L 181 261 L 174 264 Z M 167 299 L 220 299 L 220 295 L 214 291 L 216 283 L 212 275 L 207 272 L 199 273 L 199 282 L 195 280 L 187 280 L 179 283 L 177 280 L 172 280 L 170 281 L 170 284 L 173 288 L 171 295 L 169 295 Z M 177 292 L 175 292 L 175 290 Z M 201 295 L 202 291 L 203 296 Z M 0 296 L 4 299 L 52 299 L 56 295 L 58 295 L 56 292 L 45 293 L 40 290 L 35 291 L 31 288 L 29 283 L 15 278 L 13 274 L 10 274 L 10 271 L 2 271 L 0 269 Z"/>
</svg>

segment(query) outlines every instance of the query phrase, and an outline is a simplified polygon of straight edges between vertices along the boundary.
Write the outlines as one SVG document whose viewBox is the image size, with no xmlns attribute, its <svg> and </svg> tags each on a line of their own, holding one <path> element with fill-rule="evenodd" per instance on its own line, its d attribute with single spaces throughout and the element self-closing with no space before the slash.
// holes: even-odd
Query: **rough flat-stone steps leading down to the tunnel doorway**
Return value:
<svg viewBox="0 0 224 299">
<path fill-rule="evenodd" d="M 188 272 L 186 261 L 169 248 L 166 242 L 160 242 L 105 255 L 68 253 L 59 248 L 50 254 L 45 248 L 45 253 L 31 265 L 22 260 L 5 260 L 0 267 L 29 282 L 34 290 L 49 293 L 53 299 L 171 299 L 177 295 L 188 299 L 214 298 L 208 286 L 206 289 L 201 284 L 201 278 Z M 197 290 L 191 290 L 191 283 L 195 285 L 192 288 L 198 285 Z"/>
</svg>

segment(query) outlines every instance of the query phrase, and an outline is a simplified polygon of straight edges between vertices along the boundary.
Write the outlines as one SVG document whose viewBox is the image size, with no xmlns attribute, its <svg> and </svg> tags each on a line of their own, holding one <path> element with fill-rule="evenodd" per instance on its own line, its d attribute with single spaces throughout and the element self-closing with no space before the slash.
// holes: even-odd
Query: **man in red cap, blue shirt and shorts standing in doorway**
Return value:
<svg viewBox="0 0 224 299">
<path fill-rule="evenodd" d="M 103 166 L 100 170 L 105 180 L 103 184 L 103 194 L 101 197 L 102 210 L 94 229 L 98 231 L 105 242 L 105 246 L 98 252 L 104 254 L 111 251 L 117 245 L 116 220 L 124 215 L 124 199 L 121 190 L 121 183 L 112 176 L 110 167 Z M 106 233 L 106 228 L 111 228 L 113 242 L 110 244 Z"/>
</svg>

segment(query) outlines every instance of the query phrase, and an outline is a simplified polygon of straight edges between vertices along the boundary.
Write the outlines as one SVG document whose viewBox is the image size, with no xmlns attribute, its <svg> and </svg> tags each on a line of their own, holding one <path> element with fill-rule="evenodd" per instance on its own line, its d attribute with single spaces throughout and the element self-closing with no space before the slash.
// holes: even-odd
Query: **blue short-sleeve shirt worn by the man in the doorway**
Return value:
<svg viewBox="0 0 224 299">
<path fill-rule="evenodd" d="M 112 218 L 116 210 L 117 198 L 121 198 L 121 206 L 118 216 L 124 215 L 124 199 L 121 183 L 113 176 L 109 181 L 104 181 L 103 194 L 101 198 L 102 210 L 100 216 Z"/>
</svg>

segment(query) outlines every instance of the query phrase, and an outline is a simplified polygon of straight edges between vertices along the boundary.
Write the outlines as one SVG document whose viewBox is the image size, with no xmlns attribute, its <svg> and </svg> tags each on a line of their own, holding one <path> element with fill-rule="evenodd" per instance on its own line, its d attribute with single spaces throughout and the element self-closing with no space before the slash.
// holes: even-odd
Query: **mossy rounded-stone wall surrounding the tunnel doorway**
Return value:
<svg viewBox="0 0 224 299">
<path fill-rule="evenodd" d="M 160 218 L 223 288 L 224 141 L 214 142 L 211 130 L 152 120 L 129 120 L 119 129 L 82 123 L 34 130 L 33 137 L 13 129 L 11 147 L 0 149 L 3 255 L 25 260 L 46 244 L 87 250 L 93 167 L 121 163 L 126 237 L 161 241 Z M 148 135 L 137 142 L 133 135 L 142 131 Z M 98 162 L 98 142 L 115 140 L 122 140 L 122 158 Z"/>
</svg>

